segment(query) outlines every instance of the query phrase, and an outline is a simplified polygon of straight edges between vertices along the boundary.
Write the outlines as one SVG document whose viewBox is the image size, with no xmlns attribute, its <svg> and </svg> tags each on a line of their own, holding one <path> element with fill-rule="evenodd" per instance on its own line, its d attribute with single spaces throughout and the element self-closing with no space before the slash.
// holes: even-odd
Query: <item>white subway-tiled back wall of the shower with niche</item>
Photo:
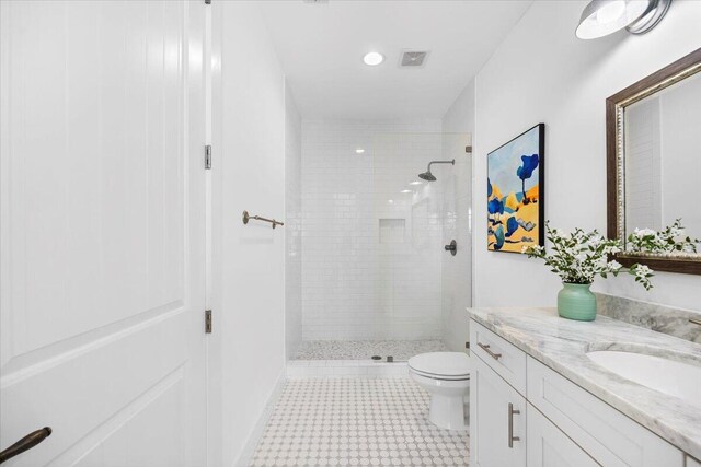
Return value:
<svg viewBox="0 0 701 467">
<path fill-rule="evenodd" d="M 409 185 L 440 147 L 439 120 L 303 122 L 304 340 L 440 337 L 439 182 Z"/>
</svg>

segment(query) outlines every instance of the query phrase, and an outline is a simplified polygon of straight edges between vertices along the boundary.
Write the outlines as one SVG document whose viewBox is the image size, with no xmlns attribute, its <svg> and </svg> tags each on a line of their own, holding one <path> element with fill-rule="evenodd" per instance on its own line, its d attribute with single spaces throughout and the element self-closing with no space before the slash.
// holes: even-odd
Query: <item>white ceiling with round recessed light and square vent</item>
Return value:
<svg viewBox="0 0 701 467">
<path fill-rule="evenodd" d="M 438 118 L 532 1 L 260 2 L 304 118 Z M 403 50 L 429 50 L 421 69 Z M 377 50 L 378 67 L 363 63 Z"/>
</svg>

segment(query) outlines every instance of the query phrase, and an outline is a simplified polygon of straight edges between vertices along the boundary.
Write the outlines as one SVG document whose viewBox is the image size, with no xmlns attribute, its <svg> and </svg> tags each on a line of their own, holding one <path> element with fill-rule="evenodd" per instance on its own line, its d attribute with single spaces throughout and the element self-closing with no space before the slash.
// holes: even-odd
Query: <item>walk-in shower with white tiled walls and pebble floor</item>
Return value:
<svg viewBox="0 0 701 467">
<path fill-rule="evenodd" d="M 297 365 L 381 366 L 388 357 L 405 362 L 464 349 L 467 331 L 446 329 L 470 306 L 471 266 L 469 255 L 446 255 L 445 245 L 471 243 L 471 137 L 440 129 L 302 125 L 302 336 L 290 353 Z M 427 172 L 417 176 L 422 166 Z M 461 341 L 447 345 L 450 332 Z"/>
</svg>

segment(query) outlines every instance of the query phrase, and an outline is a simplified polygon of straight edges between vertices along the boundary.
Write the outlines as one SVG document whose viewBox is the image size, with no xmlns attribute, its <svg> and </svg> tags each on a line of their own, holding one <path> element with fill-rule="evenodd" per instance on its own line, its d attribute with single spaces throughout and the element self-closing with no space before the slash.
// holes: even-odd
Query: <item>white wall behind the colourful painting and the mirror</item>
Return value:
<svg viewBox="0 0 701 467">
<path fill-rule="evenodd" d="M 701 2 L 675 1 L 651 33 L 579 40 L 586 1 L 537 1 L 476 77 L 478 306 L 554 305 L 558 278 L 537 260 L 486 250 L 486 154 L 545 122 L 545 215 L 553 225 L 606 227 L 605 100 L 701 46 Z M 469 104 L 468 104 L 469 105 Z M 595 289 L 699 310 L 701 277 L 657 273 L 646 293 L 628 277 Z"/>
</svg>

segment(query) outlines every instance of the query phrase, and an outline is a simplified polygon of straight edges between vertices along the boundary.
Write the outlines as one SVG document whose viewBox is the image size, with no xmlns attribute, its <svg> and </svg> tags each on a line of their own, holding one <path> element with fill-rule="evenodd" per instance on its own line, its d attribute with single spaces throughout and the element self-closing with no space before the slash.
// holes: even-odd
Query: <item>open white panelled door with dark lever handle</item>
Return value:
<svg viewBox="0 0 701 467">
<path fill-rule="evenodd" d="M 207 7 L 0 4 L 5 465 L 204 466 Z"/>
</svg>

